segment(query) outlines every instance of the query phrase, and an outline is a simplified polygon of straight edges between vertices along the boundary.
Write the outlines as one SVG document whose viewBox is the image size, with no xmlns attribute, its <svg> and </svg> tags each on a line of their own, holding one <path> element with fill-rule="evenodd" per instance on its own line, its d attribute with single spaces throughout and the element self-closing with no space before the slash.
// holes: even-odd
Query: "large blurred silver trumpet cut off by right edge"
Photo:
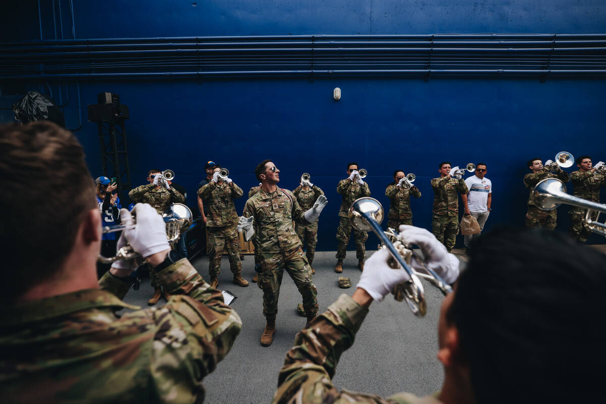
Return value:
<svg viewBox="0 0 606 404">
<path fill-rule="evenodd" d="M 606 213 L 606 205 L 591 202 L 566 192 L 566 185 L 557 178 L 545 178 L 534 186 L 532 193 L 534 204 L 542 210 L 553 210 L 561 204 L 573 205 L 587 209 L 585 224 L 593 233 L 606 237 L 606 224 L 598 221 L 600 213 Z M 595 219 L 591 219 L 597 213 Z"/>
</svg>

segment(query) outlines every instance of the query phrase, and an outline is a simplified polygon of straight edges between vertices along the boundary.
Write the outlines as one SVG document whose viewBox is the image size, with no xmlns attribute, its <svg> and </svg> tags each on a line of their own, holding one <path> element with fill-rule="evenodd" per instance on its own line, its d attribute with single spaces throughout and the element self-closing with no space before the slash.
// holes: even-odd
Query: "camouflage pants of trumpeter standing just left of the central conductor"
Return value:
<svg viewBox="0 0 606 404">
<path fill-rule="evenodd" d="M 221 272 L 221 257 L 223 250 L 227 250 L 229 266 L 234 275 L 242 272 L 240 260 L 240 239 L 238 237 L 237 225 L 224 227 L 208 227 L 208 275 L 217 277 Z"/>
</svg>

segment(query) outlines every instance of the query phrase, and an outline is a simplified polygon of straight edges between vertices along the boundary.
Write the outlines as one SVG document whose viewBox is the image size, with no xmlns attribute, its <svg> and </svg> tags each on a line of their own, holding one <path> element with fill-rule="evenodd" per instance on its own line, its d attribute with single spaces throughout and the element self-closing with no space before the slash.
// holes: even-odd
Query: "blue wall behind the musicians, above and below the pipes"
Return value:
<svg viewBox="0 0 606 404">
<path fill-rule="evenodd" d="M 601 1 L 332 1 L 332 2 L 75 2 L 76 38 L 143 38 L 202 35 L 431 34 L 431 33 L 603 33 L 606 7 Z M 377 4 L 379 3 L 379 4 Z M 55 33 L 61 39 L 58 1 Z M 19 16 L 4 25 L 5 41 L 40 39 L 37 2 L 3 5 Z M 63 38 L 71 39 L 68 1 L 61 1 Z M 55 38 L 50 5 L 43 5 L 42 36 Z M 0 17 L 2 18 L 2 17 Z M 0 21 L 2 22 L 2 21 Z M 0 82 L 7 91 L 6 82 Z M 13 83 L 11 83 L 13 85 Z M 38 89 L 38 81 L 24 88 Z M 523 225 L 528 191 L 522 177 L 531 157 L 553 159 L 561 150 L 592 154 L 606 161 L 604 101 L 606 80 L 548 78 L 244 78 L 217 81 L 83 81 L 79 114 L 76 82 L 48 84 L 56 101 L 67 102 L 67 126 L 86 121 L 85 105 L 111 91 L 130 108 L 127 121 L 134 185 L 147 170 L 170 168 L 176 182 L 195 190 L 212 159 L 231 171 L 248 190 L 256 185 L 256 164 L 273 159 L 282 170 L 281 187 L 293 189 L 304 171 L 330 201 L 320 222 L 319 250 L 335 250 L 336 183 L 345 164 L 367 168 L 373 196 L 385 208 L 386 185 L 396 168 L 416 174 L 423 196 L 413 200 L 415 225 L 430 228 L 433 192 L 429 180 L 436 165 L 484 161 L 493 181 L 496 224 Z M 61 87 L 61 99 L 59 88 Z M 332 98 L 342 90 L 341 101 Z M 48 93 L 48 87 L 44 86 Z M 0 97 L 6 107 L 10 96 Z M 82 116 L 80 116 L 82 115 Z M 0 119 L 11 119 L 0 110 Z M 77 136 L 93 175 L 101 173 L 96 125 L 84 122 Z M 568 170 L 571 171 L 571 170 Z M 571 188 L 571 186 L 569 185 Z M 242 210 L 245 198 L 237 201 Z M 558 228 L 568 226 L 567 208 Z M 594 241 L 601 241 L 594 237 Z M 368 247 L 374 248 L 376 237 Z"/>
</svg>

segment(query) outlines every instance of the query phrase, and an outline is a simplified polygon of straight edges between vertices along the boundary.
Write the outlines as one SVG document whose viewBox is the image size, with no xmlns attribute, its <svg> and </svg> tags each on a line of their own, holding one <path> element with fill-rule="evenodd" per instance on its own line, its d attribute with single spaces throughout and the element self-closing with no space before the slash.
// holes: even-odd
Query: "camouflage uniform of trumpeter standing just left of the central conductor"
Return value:
<svg viewBox="0 0 606 404">
<path fill-rule="evenodd" d="M 215 279 L 221 272 L 221 257 L 224 248 L 229 257 L 230 270 L 235 276 L 242 273 L 240 260 L 240 237 L 238 234 L 238 213 L 233 204 L 244 191 L 235 182 L 211 181 L 198 190 L 198 196 L 208 204 L 208 275 Z"/>
</svg>

